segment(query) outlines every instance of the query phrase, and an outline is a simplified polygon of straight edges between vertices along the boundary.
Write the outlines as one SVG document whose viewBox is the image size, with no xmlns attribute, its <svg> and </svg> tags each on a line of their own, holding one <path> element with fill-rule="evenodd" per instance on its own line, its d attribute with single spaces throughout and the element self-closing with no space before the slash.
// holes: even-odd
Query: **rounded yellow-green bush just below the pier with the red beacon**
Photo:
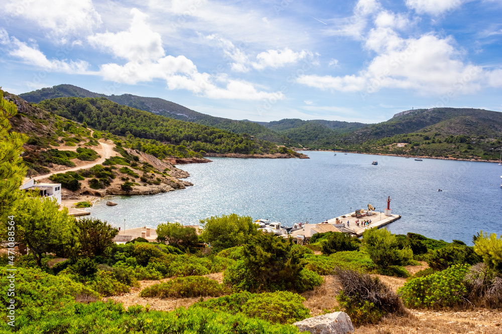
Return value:
<svg viewBox="0 0 502 334">
<path fill-rule="evenodd" d="M 387 229 L 370 228 L 362 234 L 365 251 L 378 267 L 388 268 L 393 265 L 407 265 L 413 259 L 410 247 L 399 249 L 395 234 Z"/>
</svg>

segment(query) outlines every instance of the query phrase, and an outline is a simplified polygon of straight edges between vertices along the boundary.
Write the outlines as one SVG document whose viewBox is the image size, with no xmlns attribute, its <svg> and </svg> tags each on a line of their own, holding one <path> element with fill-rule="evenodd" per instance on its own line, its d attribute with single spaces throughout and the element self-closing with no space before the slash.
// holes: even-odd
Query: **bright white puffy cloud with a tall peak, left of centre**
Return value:
<svg viewBox="0 0 502 334">
<path fill-rule="evenodd" d="M 146 23 L 147 16 L 137 9 L 131 10 L 133 19 L 127 31 L 102 33 L 89 36 L 94 47 L 110 52 L 116 57 L 130 61 L 158 60 L 165 53 L 162 38 Z"/>
</svg>

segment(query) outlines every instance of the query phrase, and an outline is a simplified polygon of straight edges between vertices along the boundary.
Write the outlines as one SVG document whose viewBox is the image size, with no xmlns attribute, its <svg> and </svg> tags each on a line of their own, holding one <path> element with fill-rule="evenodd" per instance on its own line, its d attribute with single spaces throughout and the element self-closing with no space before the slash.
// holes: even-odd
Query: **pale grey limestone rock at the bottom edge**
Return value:
<svg viewBox="0 0 502 334">
<path fill-rule="evenodd" d="M 307 318 L 293 323 L 300 331 L 312 334 L 347 334 L 354 332 L 350 317 L 345 312 L 334 312 Z"/>
</svg>

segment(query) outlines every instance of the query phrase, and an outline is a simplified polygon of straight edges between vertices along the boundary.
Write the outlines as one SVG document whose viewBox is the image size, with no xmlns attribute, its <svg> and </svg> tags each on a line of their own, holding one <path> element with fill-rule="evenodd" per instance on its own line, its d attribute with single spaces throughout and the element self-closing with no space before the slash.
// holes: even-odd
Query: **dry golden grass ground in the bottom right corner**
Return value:
<svg viewBox="0 0 502 334">
<path fill-rule="evenodd" d="M 389 315 L 374 325 L 356 328 L 359 334 L 405 333 L 484 333 L 500 334 L 502 319 L 500 309 L 475 309 L 469 311 L 412 311 L 410 314 Z"/>
</svg>

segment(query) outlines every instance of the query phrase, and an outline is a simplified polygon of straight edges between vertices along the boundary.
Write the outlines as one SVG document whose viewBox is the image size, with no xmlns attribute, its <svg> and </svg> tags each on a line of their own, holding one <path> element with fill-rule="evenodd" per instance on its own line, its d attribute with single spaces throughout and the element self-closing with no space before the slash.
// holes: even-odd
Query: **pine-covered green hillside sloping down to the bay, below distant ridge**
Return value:
<svg viewBox="0 0 502 334">
<path fill-rule="evenodd" d="M 119 105 L 103 97 L 57 98 L 44 100 L 38 106 L 100 131 L 178 145 L 178 150 L 186 148 L 195 152 L 262 154 L 275 153 L 277 149 L 275 144 L 255 140 L 249 135 L 174 120 Z"/>
</svg>

